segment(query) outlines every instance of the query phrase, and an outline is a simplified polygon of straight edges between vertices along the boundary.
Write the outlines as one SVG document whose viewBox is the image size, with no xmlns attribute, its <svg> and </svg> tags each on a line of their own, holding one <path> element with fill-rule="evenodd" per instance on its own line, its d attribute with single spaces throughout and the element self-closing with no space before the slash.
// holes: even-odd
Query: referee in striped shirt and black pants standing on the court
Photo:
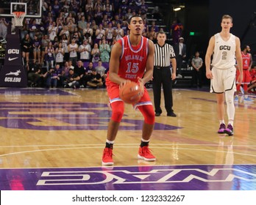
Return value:
<svg viewBox="0 0 256 205">
<path fill-rule="evenodd" d="M 172 75 L 171 67 L 172 66 Z M 160 116 L 161 86 L 163 85 L 163 95 L 167 116 L 176 116 L 172 109 L 172 80 L 176 78 L 176 59 L 174 48 L 166 43 L 166 33 L 157 33 L 157 43 L 154 44 L 154 72 L 153 72 L 153 92 L 154 92 L 154 111 L 155 116 Z"/>
</svg>

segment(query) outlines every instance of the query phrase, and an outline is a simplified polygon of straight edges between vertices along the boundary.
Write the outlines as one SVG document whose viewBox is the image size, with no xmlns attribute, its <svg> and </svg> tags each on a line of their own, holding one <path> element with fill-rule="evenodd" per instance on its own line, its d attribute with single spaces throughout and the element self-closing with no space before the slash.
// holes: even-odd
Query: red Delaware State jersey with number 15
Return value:
<svg viewBox="0 0 256 205">
<path fill-rule="evenodd" d="M 145 72 L 148 56 L 149 41 L 146 37 L 141 37 L 141 42 L 137 46 L 132 46 L 129 36 L 118 40 L 122 47 L 118 75 L 130 81 L 138 82 L 138 77 L 142 78 Z M 107 76 L 106 83 L 109 83 Z"/>
</svg>

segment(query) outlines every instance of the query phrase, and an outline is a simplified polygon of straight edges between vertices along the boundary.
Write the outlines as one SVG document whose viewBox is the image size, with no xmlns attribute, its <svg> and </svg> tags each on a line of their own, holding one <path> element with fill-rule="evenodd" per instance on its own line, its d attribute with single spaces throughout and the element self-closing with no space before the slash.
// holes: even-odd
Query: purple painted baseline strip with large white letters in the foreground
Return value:
<svg viewBox="0 0 256 205">
<path fill-rule="evenodd" d="M 256 165 L 0 170 L 0 190 L 256 190 Z"/>
</svg>

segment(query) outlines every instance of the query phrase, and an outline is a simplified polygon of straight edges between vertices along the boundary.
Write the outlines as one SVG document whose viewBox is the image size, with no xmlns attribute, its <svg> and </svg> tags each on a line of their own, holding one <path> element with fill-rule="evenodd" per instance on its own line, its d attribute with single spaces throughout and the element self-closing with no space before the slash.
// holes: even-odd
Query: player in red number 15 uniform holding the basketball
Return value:
<svg viewBox="0 0 256 205">
<path fill-rule="evenodd" d="M 129 81 L 138 82 L 143 90 L 141 100 L 134 108 L 143 114 L 141 146 L 138 158 L 154 161 L 149 150 L 149 138 L 154 128 L 154 108 L 146 91 L 145 83 L 152 80 L 154 65 L 154 44 L 142 36 L 143 20 L 134 15 L 128 20 L 129 36 L 123 37 L 113 46 L 110 56 L 110 70 L 107 73 L 107 94 L 110 97 L 112 116 L 107 129 L 107 141 L 103 151 L 102 165 L 113 165 L 113 143 L 124 114 L 124 102 L 119 97 L 119 88 Z"/>
</svg>

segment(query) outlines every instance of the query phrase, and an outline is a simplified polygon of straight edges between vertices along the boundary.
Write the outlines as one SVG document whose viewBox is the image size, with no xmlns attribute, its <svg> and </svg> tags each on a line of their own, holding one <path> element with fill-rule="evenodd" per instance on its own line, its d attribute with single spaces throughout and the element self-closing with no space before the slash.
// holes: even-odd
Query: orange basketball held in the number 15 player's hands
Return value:
<svg viewBox="0 0 256 205">
<path fill-rule="evenodd" d="M 120 90 L 119 96 L 124 103 L 134 104 L 138 103 L 142 97 L 141 87 L 138 83 L 126 83 Z"/>
</svg>

